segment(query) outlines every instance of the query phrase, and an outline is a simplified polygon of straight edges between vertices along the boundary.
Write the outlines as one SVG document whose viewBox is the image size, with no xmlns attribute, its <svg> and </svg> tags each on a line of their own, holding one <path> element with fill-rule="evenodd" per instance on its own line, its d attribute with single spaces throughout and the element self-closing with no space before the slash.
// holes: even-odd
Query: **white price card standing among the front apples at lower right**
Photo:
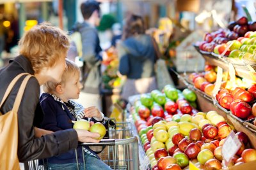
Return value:
<svg viewBox="0 0 256 170">
<path fill-rule="evenodd" d="M 228 137 L 225 139 L 223 143 L 221 155 L 223 160 L 225 160 L 225 165 L 227 166 L 229 161 L 236 155 L 237 150 L 241 147 L 241 142 L 236 137 L 234 131 L 231 131 Z"/>
</svg>

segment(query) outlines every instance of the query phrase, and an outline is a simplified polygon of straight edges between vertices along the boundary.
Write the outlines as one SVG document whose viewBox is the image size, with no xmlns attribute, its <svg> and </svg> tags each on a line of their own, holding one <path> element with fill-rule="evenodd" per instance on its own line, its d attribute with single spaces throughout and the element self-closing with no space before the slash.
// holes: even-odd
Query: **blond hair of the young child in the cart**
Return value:
<svg viewBox="0 0 256 170">
<path fill-rule="evenodd" d="M 65 85 L 65 83 L 68 81 L 70 76 L 75 76 L 76 74 L 80 75 L 80 69 L 76 66 L 76 63 L 72 62 L 71 60 L 66 59 L 66 69 L 64 73 L 61 76 L 60 83 L 53 83 L 51 81 L 48 81 L 44 84 L 44 91 L 47 93 L 54 93 L 56 92 L 56 87 L 58 85 Z"/>
</svg>

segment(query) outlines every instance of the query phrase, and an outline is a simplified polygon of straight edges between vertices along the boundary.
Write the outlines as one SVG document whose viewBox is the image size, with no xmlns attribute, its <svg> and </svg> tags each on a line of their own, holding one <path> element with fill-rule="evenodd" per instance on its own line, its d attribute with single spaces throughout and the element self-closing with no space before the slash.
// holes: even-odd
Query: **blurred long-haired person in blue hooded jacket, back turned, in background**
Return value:
<svg viewBox="0 0 256 170">
<path fill-rule="evenodd" d="M 145 25 L 140 16 L 131 15 L 126 20 L 122 39 L 118 46 L 119 71 L 127 76 L 122 89 L 122 98 L 127 100 L 129 96 L 157 89 L 154 73 L 157 57 L 153 39 L 145 34 Z"/>
</svg>

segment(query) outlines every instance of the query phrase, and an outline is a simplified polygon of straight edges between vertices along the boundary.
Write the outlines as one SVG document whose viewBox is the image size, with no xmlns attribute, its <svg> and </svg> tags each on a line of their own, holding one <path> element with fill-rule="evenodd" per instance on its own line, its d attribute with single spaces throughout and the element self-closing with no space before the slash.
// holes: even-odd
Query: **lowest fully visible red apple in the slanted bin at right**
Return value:
<svg viewBox="0 0 256 170">
<path fill-rule="evenodd" d="M 238 103 L 234 110 L 234 115 L 239 118 L 246 118 L 252 113 L 252 108 L 248 103 L 244 101 Z"/>
</svg>

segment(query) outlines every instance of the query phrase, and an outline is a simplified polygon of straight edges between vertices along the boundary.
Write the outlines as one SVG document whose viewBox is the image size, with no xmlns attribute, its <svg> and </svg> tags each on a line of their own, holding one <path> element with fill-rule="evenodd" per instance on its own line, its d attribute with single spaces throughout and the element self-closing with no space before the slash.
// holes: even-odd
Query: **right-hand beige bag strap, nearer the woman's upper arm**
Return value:
<svg viewBox="0 0 256 170">
<path fill-rule="evenodd" d="M 32 75 L 26 76 L 26 78 L 24 78 L 24 80 L 22 81 L 22 83 L 20 85 L 19 92 L 18 92 L 16 99 L 14 101 L 14 104 L 13 104 L 13 108 L 12 108 L 13 113 L 18 113 L 20 102 L 21 102 L 22 96 L 24 94 L 24 90 L 25 90 L 28 80 L 29 80 L 29 78 L 31 78 L 31 76 Z"/>
</svg>

